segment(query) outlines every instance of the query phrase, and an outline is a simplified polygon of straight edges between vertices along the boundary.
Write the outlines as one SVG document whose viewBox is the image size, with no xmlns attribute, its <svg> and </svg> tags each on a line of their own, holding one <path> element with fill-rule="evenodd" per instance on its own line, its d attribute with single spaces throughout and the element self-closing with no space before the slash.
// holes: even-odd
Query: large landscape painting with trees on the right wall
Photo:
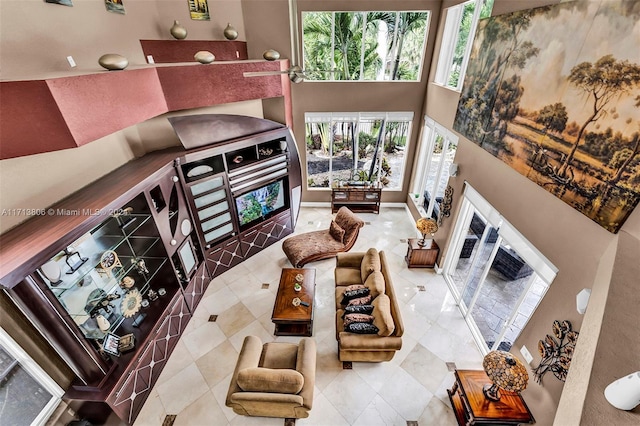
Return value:
<svg viewBox="0 0 640 426">
<path fill-rule="evenodd" d="M 602 227 L 640 200 L 640 1 L 480 22 L 454 129 Z"/>
</svg>

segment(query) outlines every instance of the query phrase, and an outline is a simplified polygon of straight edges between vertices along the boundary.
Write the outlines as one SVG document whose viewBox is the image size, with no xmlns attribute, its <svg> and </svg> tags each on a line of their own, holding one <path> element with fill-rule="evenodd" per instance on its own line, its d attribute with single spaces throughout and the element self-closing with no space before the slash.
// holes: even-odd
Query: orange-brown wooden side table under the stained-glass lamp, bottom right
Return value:
<svg viewBox="0 0 640 426">
<path fill-rule="evenodd" d="M 456 382 L 447 390 L 453 412 L 460 426 L 518 425 L 535 423 L 533 415 L 519 393 L 500 389 L 500 400 L 490 401 L 482 387 L 491 380 L 482 370 L 456 370 Z"/>
</svg>

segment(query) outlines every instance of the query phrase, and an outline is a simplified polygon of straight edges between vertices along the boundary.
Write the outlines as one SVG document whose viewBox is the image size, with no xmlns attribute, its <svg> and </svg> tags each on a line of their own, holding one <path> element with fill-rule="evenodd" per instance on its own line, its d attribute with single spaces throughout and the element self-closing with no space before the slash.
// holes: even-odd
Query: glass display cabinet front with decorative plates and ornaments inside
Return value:
<svg viewBox="0 0 640 426">
<path fill-rule="evenodd" d="M 144 306 L 150 282 L 167 260 L 141 194 L 57 253 L 38 274 L 84 336 L 103 339 Z"/>
</svg>

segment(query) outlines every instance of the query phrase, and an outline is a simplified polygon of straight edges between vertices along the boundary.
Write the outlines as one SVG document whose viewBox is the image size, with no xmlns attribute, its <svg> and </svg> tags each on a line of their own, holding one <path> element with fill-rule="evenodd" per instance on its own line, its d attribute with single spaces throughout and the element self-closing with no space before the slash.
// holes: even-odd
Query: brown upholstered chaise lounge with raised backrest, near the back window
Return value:
<svg viewBox="0 0 640 426">
<path fill-rule="evenodd" d="M 309 262 L 349 251 L 363 226 L 362 219 L 341 207 L 329 229 L 291 236 L 282 243 L 282 250 L 294 267 L 302 268 Z"/>
</svg>

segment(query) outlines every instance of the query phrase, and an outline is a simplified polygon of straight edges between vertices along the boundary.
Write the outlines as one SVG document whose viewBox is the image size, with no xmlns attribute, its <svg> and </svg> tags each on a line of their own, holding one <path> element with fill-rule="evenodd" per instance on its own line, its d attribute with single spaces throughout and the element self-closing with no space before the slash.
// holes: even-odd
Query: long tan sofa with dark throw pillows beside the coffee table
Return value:
<svg viewBox="0 0 640 426">
<path fill-rule="evenodd" d="M 340 361 L 389 361 L 402 348 L 404 326 L 384 252 L 369 249 L 366 253 L 339 253 L 336 256 L 336 339 Z M 375 296 L 373 324 L 377 334 L 344 331 L 345 289 L 364 284 Z M 381 296 L 382 295 L 382 296 Z"/>
</svg>

